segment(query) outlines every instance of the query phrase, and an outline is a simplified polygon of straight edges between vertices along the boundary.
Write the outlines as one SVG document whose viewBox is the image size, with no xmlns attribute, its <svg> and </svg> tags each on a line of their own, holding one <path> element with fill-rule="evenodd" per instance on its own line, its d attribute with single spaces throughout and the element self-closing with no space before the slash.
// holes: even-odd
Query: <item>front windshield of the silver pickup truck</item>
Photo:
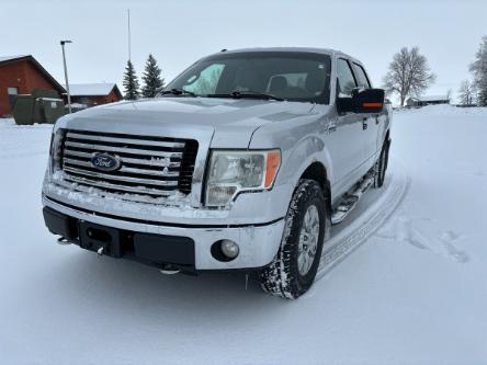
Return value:
<svg viewBox="0 0 487 365">
<path fill-rule="evenodd" d="M 270 99 L 268 95 L 328 104 L 330 69 L 330 57 L 321 54 L 222 53 L 197 61 L 165 90 L 196 96 Z"/>
</svg>

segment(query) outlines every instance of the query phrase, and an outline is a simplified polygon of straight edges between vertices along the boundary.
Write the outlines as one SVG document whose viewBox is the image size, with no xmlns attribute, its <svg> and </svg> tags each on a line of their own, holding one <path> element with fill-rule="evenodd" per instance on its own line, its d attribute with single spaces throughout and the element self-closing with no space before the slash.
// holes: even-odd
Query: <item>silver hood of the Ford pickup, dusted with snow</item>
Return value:
<svg viewBox="0 0 487 365">
<path fill-rule="evenodd" d="M 89 109 L 63 117 L 56 128 L 194 138 L 213 148 L 248 148 L 257 128 L 306 115 L 312 109 L 297 102 L 159 98 Z"/>
</svg>

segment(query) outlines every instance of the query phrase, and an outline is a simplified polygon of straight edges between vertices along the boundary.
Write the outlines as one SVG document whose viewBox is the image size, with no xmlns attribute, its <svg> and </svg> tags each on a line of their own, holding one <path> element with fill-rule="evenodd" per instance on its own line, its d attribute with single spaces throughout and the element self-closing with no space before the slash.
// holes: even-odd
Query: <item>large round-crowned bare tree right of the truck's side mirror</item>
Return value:
<svg viewBox="0 0 487 365">
<path fill-rule="evenodd" d="M 419 48 L 403 47 L 394 55 L 383 82 L 386 93 L 398 93 L 400 106 L 404 106 L 407 96 L 420 95 L 434 80 L 435 76 Z"/>
</svg>

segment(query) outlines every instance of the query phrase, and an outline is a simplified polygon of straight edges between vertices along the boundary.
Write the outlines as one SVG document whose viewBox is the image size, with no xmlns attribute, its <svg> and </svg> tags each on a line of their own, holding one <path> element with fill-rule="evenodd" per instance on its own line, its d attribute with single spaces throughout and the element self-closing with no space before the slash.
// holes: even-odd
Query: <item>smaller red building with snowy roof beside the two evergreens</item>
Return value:
<svg viewBox="0 0 487 365">
<path fill-rule="evenodd" d="M 116 83 L 69 83 L 72 104 L 95 106 L 122 100 Z"/>
</svg>

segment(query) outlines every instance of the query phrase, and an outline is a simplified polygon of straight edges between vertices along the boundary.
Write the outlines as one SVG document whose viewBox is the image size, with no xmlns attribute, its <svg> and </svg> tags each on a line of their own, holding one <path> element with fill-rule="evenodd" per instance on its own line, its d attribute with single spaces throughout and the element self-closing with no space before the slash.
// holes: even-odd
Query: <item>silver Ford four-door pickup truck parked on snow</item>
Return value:
<svg viewBox="0 0 487 365">
<path fill-rule="evenodd" d="M 297 298 L 331 226 L 383 185 L 389 127 L 384 91 L 343 53 L 223 50 L 160 98 L 61 117 L 44 219 L 59 243 L 163 273 L 257 272 Z"/>
</svg>

